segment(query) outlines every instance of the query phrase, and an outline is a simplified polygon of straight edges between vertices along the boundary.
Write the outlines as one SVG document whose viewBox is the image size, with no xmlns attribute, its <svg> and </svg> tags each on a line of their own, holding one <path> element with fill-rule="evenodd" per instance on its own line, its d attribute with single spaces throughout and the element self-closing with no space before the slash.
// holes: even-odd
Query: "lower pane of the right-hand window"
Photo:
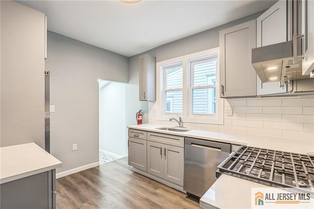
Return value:
<svg viewBox="0 0 314 209">
<path fill-rule="evenodd" d="M 192 89 L 192 113 L 216 113 L 216 88 Z"/>
</svg>

